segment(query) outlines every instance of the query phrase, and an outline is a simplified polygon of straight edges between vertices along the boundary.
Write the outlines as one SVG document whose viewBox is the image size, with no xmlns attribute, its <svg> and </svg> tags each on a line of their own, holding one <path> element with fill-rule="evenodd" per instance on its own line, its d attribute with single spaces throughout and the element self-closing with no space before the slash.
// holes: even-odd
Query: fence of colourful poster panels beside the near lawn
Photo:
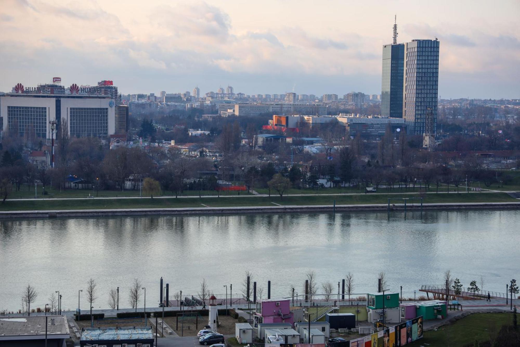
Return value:
<svg viewBox="0 0 520 347">
<path fill-rule="evenodd" d="M 417 317 L 360 339 L 350 340 L 350 347 L 400 347 L 423 337 L 423 317 Z"/>
</svg>

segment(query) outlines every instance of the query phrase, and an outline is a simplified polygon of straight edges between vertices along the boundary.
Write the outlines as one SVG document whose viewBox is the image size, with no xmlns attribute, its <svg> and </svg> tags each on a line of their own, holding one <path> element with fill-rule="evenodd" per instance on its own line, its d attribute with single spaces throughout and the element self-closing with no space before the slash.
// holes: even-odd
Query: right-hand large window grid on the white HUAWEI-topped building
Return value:
<svg viewBox="0 0 520 347">
<path fill-rule="evenodd" d="M 108 108 L 71 107 L 70 135 L 81 137 L 108 136 Z"/>
</svg>

